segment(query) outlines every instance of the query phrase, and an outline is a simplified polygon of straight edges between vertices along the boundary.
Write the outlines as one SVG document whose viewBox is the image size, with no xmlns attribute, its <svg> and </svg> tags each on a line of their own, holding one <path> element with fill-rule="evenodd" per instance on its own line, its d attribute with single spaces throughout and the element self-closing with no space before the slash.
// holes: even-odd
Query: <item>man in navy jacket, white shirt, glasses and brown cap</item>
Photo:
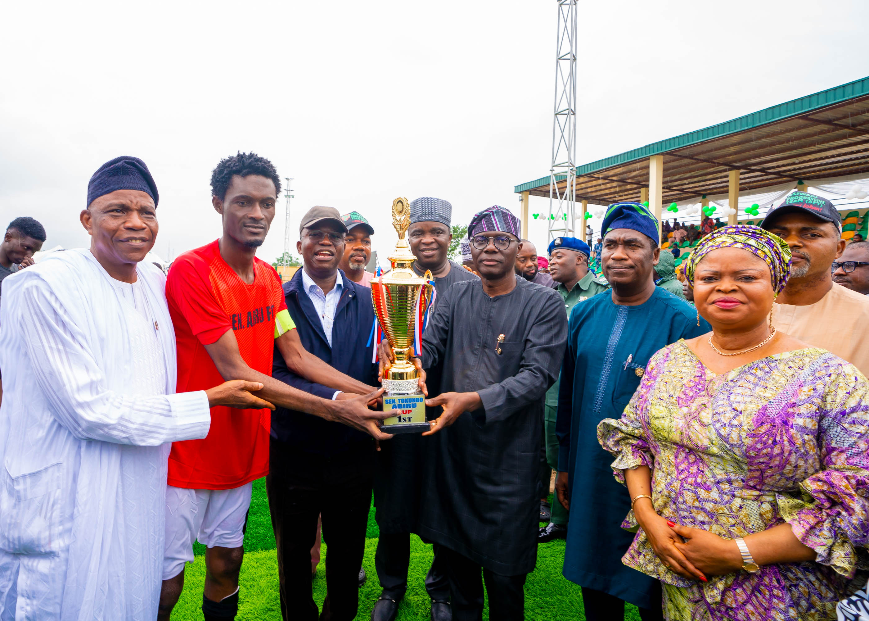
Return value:
<svg viewBox="0 0 869 621">
<path fill-rule="evenodd" d="M 372 385 L 374 391 L 377 366 L 372 363 L 373 344 L 368 344 L 375 320 L 371 290 L 338 269 L 346 232 L 334 208 L 309 210 L 302 217 L 296 246 L 304 267 L 283 290 L 305 349 L 336 370 Z M 348 396 L 295 375 L 280 356 L 275 357 L 272 375 L 318 397 Z M 322 515 L 328 566 L 321 618 L 350 621 L 359 599 L 374 440 L 347 425 L 279 408 L 272 414 L 270 451 L 269 510 L 283 618 L 315 621 L 318 617 L 311 592 L 310 550 L 317 517 Z"/>
</svg>

